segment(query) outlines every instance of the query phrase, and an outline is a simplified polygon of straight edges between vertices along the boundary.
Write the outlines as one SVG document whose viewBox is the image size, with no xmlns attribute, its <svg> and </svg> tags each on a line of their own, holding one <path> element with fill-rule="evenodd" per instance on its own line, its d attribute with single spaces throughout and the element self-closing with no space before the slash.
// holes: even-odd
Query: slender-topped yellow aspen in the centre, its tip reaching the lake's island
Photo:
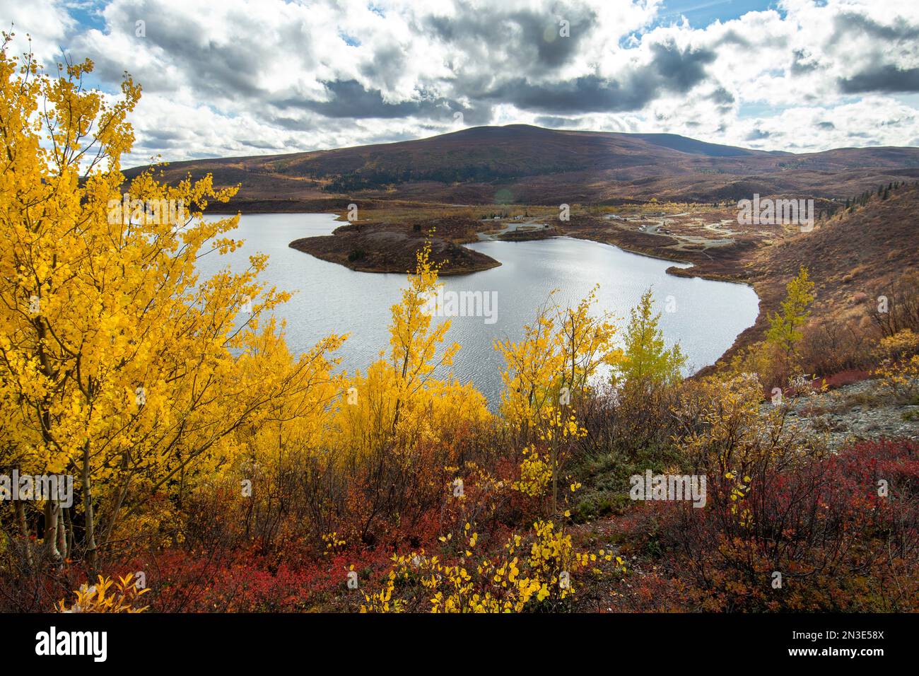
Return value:
<svg viewBox="0 0 919 676">
<path fill-rule="evenodd" d="M 423 445 L 448 454 L 464 430 L 491 418 L 482 394 L 449 370 L 459 344 L 447 342 L 450 321 L 436 323 L 430 312 L 437 267 L 429 256 L 429 244 L 418 250 L 400 303 L 391 307 L 389 354 L 380 352 L 366 372 L 347 379 L 335 411 L 335 462 L 348 476 L 368 476 L 361 537 L 391 499 L 392 481 L 414 480 Z"/>
</svg>

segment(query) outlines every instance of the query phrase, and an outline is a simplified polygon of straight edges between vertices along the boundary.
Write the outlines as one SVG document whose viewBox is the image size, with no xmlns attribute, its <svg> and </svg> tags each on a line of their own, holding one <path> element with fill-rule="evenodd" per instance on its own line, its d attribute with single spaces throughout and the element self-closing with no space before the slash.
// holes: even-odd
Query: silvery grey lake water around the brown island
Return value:
<svg viewBox="0 0 919 676">
<path fill-rule="evenodd" d="M 216 217 L 215 217 L 216 218 Z M 342 367 L 364 370 L 389 351 L 390 308 L 406 284 L 403 274 L 355 272 L 290 248 L 294 239 L 327 235 L 340 225 L 334 214 L 250 214 L 228 234 L 245 245 L 227 256 L 210 254 L 199 261 L 207 275 L 230 264 L 248 267 L 248 256 L 269 255 L 262 279 L 293 293 L 277 312 L 287 321 L 287 342 L 294 354 L 309 349 L 331 333 L 349 332 L 338 351 Z M 616 246 L 559 237 L 532 242 L 477 242 L 469 245 L 496 260 L 499 268 L 471 275 L 442 278 L 445 292 L 496 292 L 494 323 L 482 316 L 452 317 L 448 341 L 462 346 L 453 372 L 463 383 L 471 380 L 488 397 L 499 401 L 500 370 L 495 340 L 523 335 L 552 289 L 561 304 L 576 304 L 599 282 L 598 307 L 612 312 L 625 327 L 629 310 L 652 286 L 660 326 L 668 344 L 678 341 L 688 355 L 686 374 L 716 361 L 744 328 L 753 325 L 758 299 L 753 289 L 724 281 L 667 275 L 673 262 L 623 251 Z M 677 267 L 688 267 L 676 264 Z M 667 312 L 668 309 L 673 312 Z"/>
</svg>

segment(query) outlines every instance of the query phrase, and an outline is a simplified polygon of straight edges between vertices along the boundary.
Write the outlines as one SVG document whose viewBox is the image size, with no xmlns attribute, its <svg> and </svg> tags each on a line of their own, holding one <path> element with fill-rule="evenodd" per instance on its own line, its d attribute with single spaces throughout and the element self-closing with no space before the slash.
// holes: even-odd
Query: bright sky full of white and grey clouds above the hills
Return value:
<svg viewBox="0 0 919 676">
<path fill-rule="evenodd" d="M 916 0 L 0 0 L 0 23 L 141 83 L 129 166 L 516 122 L 919 145 Z"/>
</svg>

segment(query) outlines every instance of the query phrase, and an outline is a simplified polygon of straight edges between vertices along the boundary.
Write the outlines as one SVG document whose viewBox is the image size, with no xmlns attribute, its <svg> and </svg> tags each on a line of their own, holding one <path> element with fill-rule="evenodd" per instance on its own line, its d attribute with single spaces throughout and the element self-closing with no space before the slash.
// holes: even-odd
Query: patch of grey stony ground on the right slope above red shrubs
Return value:
<svg viewBox="0 0 919 676">
<path fill-rule="evenodd" d="M 854 439 L 919 440 L 919 402 L 892 395 L 877 380 L 794 397 L 787 405 L 789 425 L 823 436 L 830 448 Z"/>
</svg>

